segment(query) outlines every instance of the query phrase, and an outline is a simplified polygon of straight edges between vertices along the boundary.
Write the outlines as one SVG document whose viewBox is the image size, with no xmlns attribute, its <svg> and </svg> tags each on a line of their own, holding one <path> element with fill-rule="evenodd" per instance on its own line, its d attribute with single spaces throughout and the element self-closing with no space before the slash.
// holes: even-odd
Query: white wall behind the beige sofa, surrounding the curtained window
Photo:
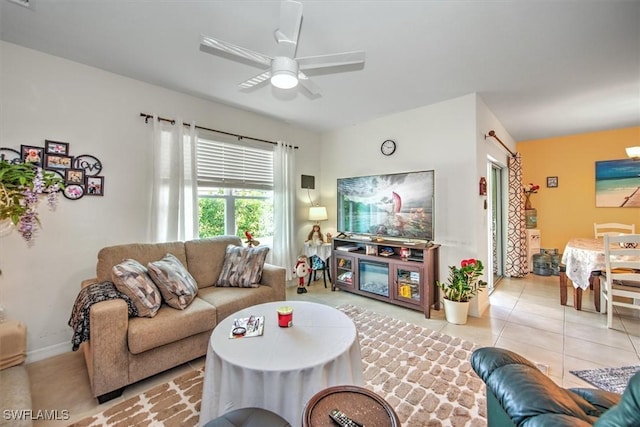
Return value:
<svg viewBox="0 0 640 427">
<path fill-rule="evenodd" d="M 285 140 L 300 147 L 298 187 L 301 173 L 319 174 L 316 133 L 0 42 L 0 146 L 68 142 L 70 154 L 98 157 L 105 176 L 104 197 L 62 198 L 56 212 L 41 203 L 32 247 L 17 232 L 0 238 L 0 305 L 26 323 L 29 361 L 71 349 L 67 321 L 81 280 L 95 276 L 98 250 L 147 239 L 152 125 L 141 112 Z M 306 215 L 306 190 L 298 199 Z M 307 225 L 300 217 L 300 234 Z"/>
</svg>

